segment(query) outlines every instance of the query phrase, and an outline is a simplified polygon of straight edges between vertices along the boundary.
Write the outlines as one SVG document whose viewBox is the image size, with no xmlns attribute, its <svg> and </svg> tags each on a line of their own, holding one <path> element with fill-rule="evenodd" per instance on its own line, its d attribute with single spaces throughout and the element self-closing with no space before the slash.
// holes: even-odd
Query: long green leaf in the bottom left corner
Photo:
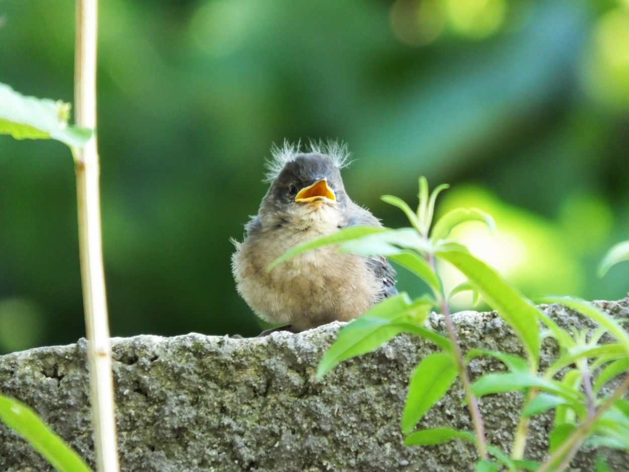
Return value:
<svg viewBox="0 0 629 472">
<path fill-rule="evenodd" d="M 60 472 L 89 472 L 87 464 L 24 403 L 0 395 L 0 419 Z"/>
</svg>

